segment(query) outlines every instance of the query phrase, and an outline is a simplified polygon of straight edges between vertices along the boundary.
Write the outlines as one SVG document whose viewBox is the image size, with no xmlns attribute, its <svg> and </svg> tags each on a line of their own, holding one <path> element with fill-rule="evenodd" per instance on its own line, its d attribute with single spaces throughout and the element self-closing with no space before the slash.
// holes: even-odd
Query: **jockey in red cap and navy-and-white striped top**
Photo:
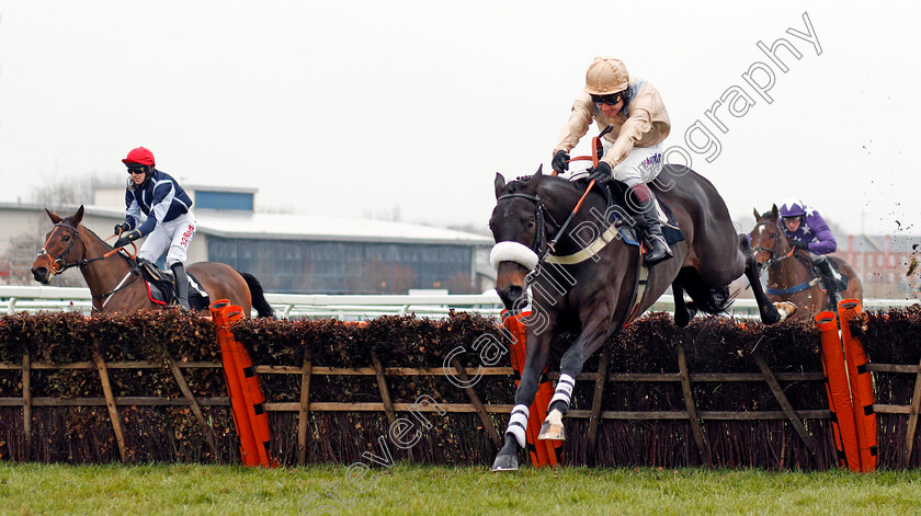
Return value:
<svg viewBox="0 0 921 516">
<path fill-rule="evenodd" d="M 125 191 L 125 221 L 115 225 L 115 233 L 121 234 L 115 248 L 148 237 L 137 257 L 156 262 L 167 254 L 167 267 L 175 276 L 179 303 L 183 310 L 189 310 L 185 260 L 197 228 L 191 209 L 192 199 L 172 176 L 154 168 L 154 153 L 148 149 L 132 149 L 122 162 L 128 168 L 129 177 Z M 144 223 L 140 223 L 141 213 L 147 216 Z"/>
</svg>

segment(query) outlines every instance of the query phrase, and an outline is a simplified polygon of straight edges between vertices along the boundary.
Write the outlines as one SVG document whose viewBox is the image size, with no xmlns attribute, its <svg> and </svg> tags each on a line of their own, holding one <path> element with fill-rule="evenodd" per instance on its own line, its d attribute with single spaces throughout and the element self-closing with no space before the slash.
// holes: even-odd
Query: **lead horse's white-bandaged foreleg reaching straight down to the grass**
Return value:
<svg viewBox="0 0 921 516">
<path fill-rule="evenodd" d="M 534 397 L 537 395 L 537 381 L 547 365 L 550 337 L 549 331 L 528 332 L 527 334 L 527 355 L 524 359 L 524 368 L 521 371 L 521 382 L 515 390 L 515 406 L 512 408 L 512 416 L 509 418 L 509 426 L 505 428 L 505 445 L 496 455 L 492 471 L 512 471 L 519 467 L 518 450 L 526 445 L 525 429 L 530 415 L 528 408 L 534 403 Z"/>
</svg>

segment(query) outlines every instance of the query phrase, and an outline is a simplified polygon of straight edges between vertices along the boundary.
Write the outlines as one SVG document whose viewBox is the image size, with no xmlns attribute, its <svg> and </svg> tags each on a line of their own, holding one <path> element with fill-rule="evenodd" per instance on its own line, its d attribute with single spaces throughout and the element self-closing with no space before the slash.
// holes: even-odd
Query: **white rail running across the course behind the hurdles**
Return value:
<svg viewBox="0 0 921 516">
<path fill-rule="evenodd" d="M 373 319 L 380 316 L 417 316 L 442 318 L 451 310 L 473 311 L 498 317 L 502 303 L 496 293 L 480 295 L 325 295 L 265 294 L 265 299 L 280 318 Z M 866 309 L 903 308 L 918 303 L 914 299 L 864 299 Z M 671 295 L 660 297 L 651 310 L 672 311 Z M 0 313 L 37 311 L 76 311 L 89 314 L 91 297 L 88 288 L 46 286 L 0 286 Z M 754 299 L 737 299 L 727 316 L 749 318 L 758 314 Z"/>
</svg>

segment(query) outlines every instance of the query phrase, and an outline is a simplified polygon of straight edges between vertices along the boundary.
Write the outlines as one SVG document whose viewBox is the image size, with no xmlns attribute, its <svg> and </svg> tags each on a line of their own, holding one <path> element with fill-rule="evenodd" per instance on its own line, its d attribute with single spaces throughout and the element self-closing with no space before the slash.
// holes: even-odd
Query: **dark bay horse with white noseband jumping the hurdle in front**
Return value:
<svg viewBox="0 0 921 516">
<path fill-rule="evenodd" d="M 761 290 L 748 236 L 736 233 L 726 204 L 709 181 L 684 167 L 666 165 L 649 185 L 671 206 L 685 240 L 671 246 L 673 259 L 648 270 L 645 282 L 639 282 L 644 275 L 638 267 L 639 250 L 611 229 L 611 208 L 600 188 L 585 196 L 549 252 L 548 242 L 573 213 L 585 186 L 585 182 L 544 175 L 541 169 L 508 184 L 496 174 L 497 204 L 489 220 L 497 242 L 490 255 L 497 267 L 496 289 L 505 307 L 515 310 L 527 302 L 530 286 L 532 313 L 525 321 L 527 353 L 521 383 L 493 471 L 518 469 L 528 406 L 550 344 L 560 333 L 578 337 L 560 362 L 560 379 L 539 438 L 564 438 L 561 417 L 585 359 L 669 286 L 674 294 L 674 321 L 681 326 L 697 310 L 725 311 L 731 303 L 728 286 L 742 274 L 752 283 L 762 321 L 772 324 L 785 317 L 778 311 L 785 307 L 772 305 Z M 623 210 L 616 215 L 629 217 Z M 691 302 L 684 300 L 685 293 Z"/>
</svg>

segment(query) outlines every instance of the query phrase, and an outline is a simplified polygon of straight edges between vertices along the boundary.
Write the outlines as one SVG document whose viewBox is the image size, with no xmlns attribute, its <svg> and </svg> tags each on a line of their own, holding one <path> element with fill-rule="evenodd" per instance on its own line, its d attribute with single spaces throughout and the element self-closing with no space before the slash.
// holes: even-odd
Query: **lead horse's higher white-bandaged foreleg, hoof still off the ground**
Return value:
<svg viewBox="0 0 921 516">
<path fill-rule="evenodd" d="M 576 377 L 582 371 L 582 365 L 607 336 L 610 318 L 604 313 L 605 310 L 599 309 L 595 311 L 592 318 L 583 323 L 579 339 L 562 355 L 559 363 L 559 380 L 550 400 L 549 414 L 544 420 L 544 425 L 541 426 L 538 439 L 566 439 L 562 416 L 569 411 L 572 389 L 576 387 Z"/>
</svg>

